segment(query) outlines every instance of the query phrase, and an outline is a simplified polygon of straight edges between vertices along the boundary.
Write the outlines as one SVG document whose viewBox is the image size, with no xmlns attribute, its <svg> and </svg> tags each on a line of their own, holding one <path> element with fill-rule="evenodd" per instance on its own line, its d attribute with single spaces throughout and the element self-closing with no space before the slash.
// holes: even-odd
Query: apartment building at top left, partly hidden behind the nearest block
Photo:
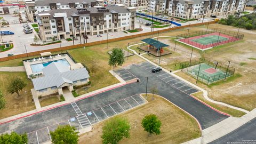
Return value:
<svg viewBox="0 0 256 144">
<path fill-rule="evenodd" d="M 31 22 L 36 22 L 36 14 L 38 12 L 67 9 L 67 8 L 86 8 L 103 5 L 103 0 L 45 0 L 45 1 L 26 1 L 26 15 L 28 20 Z"/>
</svg>

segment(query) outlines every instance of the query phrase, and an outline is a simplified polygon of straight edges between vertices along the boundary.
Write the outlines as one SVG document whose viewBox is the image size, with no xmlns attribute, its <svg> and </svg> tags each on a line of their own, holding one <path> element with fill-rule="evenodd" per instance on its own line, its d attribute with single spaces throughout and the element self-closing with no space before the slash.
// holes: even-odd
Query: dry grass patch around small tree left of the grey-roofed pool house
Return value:
<svg viewBox="0 0 256 144">
<path fill-rule="evenodd" d="M 6 92 L 10 79 L 17 76 L 21 77 L 22 81 L 27 84 L 26 88 L 20 92 L 20 98 L 16 93 L 8 94 Z M 33 84 L 28 80 L 25 72 L 0 72 L 0 82 L 0 89 L 5 94 L 4 98 L 7 101 L 5 109 L 0 110 L 0 119 L 35 109 L 30 91 Z"/>
</svg>

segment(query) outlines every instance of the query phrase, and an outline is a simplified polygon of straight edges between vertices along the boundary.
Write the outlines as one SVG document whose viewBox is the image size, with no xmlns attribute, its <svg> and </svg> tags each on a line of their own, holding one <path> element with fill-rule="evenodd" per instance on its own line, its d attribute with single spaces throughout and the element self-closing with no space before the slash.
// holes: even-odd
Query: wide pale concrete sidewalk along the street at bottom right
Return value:
<svg viewBox="0 0 256 144">
<path fill-rule="evenodd" d="M 256 108 L 242 117 L 229 117 L 218 124 L 208 127 L 207 129 L 202 130 L 202 137 L 184 142 L 183 144 L 209 143 L 238 129 L 238 127 L 251 121 L 254 117 L 256 117 Z"/>
</svg>

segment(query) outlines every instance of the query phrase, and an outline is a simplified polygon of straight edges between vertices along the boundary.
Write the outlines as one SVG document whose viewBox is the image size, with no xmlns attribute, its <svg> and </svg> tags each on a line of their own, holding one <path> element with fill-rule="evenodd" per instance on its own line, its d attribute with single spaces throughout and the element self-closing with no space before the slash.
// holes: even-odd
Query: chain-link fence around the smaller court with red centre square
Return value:
<svg viewBox="0 0 256 144">
<path fill-rule="evenodd" d="M 183 73 L 198 78 L 199 81 L 206 84 L 220 81 L 233 76 L 235 73 L 235 68 L 207 57 L 182 62 L 180 63 L 180 69 Z M 210 73 L 205 72 L 207 70 L 210 70 Z"/>
</svg>

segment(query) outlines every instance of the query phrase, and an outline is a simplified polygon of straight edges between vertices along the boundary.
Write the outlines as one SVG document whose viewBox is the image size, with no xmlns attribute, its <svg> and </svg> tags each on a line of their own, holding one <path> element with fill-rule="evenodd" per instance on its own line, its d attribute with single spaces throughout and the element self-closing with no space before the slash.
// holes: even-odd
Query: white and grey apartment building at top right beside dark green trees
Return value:
<svg viewBox="0 0 256 144">
<path fill-rule="evenodd" d="M 246 0 L 171 0 L 168 15 L 183 19 L 220 17 L 243 12 Z"/>
</svg>

